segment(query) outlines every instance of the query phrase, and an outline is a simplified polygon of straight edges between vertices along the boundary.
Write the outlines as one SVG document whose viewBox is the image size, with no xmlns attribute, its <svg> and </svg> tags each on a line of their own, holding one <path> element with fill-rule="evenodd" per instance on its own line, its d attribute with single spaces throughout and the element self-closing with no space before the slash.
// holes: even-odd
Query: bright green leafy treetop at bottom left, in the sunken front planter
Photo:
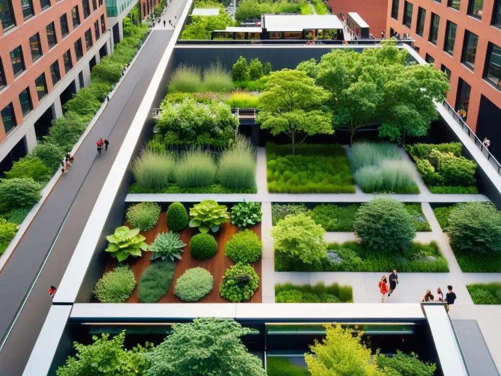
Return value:
<svg viewBox="0 0 501 376">
<path fill-rule="evenodd" d="M 83 345 L 73 342 L 76 357 L 70 356 L 66 364 L 56 371 L 57 376 L 130 376 L 142 375 L 151 343 L 137 345 L 132 350 L 124 348 L 125 330 L 111 339 L 109 334 L 94 335 L 94 343 Z"/>
</svg>

